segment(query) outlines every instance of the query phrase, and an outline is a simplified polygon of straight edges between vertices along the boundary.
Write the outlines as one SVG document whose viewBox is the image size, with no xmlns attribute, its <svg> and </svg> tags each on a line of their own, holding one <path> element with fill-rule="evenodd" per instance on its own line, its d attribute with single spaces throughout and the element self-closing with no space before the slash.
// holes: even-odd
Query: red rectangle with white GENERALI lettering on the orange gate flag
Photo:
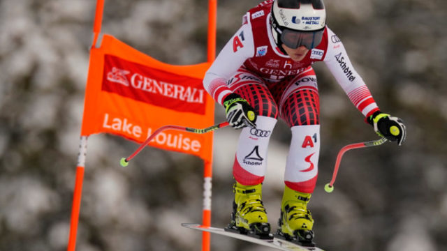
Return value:
<svg viewBox="0 0 447 251">
<path fill-rule="evenodd" d="M 179 112 L 205 114 L 206 92 L 200 79 L 168 73 L 117 56 L 104 56 L 102 90 Z"/>
</svg>

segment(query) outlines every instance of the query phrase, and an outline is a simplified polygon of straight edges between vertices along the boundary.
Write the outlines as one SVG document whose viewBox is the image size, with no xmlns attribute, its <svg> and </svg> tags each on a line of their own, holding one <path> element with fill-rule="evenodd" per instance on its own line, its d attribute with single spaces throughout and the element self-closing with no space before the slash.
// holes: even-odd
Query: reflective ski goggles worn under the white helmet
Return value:
<svg viewBox="0 0 447 251">
<path fill-rule="evenodd" d="M 296 49 L 302 45 L 308 50 L 315 48 L 323 39 L 323 29 L 317 31 L 293 31 L 291 29 L 281 30 L 281 42 L 291 49 Z"/>
</svg>

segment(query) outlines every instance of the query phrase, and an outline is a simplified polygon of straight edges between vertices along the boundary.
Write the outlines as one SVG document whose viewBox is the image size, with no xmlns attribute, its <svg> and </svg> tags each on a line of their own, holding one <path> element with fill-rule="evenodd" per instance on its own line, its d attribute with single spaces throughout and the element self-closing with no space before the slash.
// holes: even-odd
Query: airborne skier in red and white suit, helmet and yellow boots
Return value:
<svg viewBox="0 0 447 251">
<path fill-rule="evenodd" d="M 233 128 L 243 128 L 233 165 L 233 213 L 228 230 L 270 234 L 261 186 L 271 132 L 281 118 L 292 138 L 284 174 L 277 235 L 313 245 L 307 208 L 318 174 L 319 99 L 312 63 L 323 61 L 375 132 L 401 145 L 405 126 L 382 113 L 353 68 L 342 41 L 325 24 L 322 0 L 268 0 L 242 18 L 203 79 L 226 109 Z"/>
</svg>

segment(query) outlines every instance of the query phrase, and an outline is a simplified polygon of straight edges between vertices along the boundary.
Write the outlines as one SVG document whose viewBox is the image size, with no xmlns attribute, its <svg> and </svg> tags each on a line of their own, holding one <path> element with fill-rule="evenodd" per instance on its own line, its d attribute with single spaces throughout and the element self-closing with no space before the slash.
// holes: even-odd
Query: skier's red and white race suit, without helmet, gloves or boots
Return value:
<svg viewBox="0 0 447 251">
<path fill-rule="evenodd" d="M 301 61 L 293 61 L 274 43 L 270 26 L 272 0 L 244 15 L 242 26 L 205 74 L 208 93 L 222 104 L 230 93 L 245 98 L 258 112 L 256 128 L 242 129 L 233 176 L 243 185 L 261 183 L 268 142 L 277 118 L 291 127 L 292 140 L 284 181 L 299 192 L 314 191 L 318 174 L 319 97 L 312 64 L 323 61 L 360 112 L 379 110 L 349 60 L 342 41 L 327 26 L 321 43 Z"/>
</svg>

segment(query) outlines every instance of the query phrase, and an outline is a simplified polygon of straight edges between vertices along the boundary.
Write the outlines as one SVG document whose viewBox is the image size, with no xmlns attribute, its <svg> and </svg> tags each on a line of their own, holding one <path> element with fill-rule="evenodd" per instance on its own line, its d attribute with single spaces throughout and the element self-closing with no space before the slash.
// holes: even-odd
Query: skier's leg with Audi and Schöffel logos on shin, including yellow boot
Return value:
<svg viewBox="0 0 447 251">
<path fill-rule="evenodd" d="M 261 200 L 261 186 L 267 167 L 268 143 L 277 122 L 277 105 L 263 81 L 252 73 L 238 72 L 229 86 L 254 107 L 258 119 L 256 128 L 246 127 L 240 133 L 233 165 L 235 200 L 227 230 L 268 236 L 270 225 Z"/>
</svg>

